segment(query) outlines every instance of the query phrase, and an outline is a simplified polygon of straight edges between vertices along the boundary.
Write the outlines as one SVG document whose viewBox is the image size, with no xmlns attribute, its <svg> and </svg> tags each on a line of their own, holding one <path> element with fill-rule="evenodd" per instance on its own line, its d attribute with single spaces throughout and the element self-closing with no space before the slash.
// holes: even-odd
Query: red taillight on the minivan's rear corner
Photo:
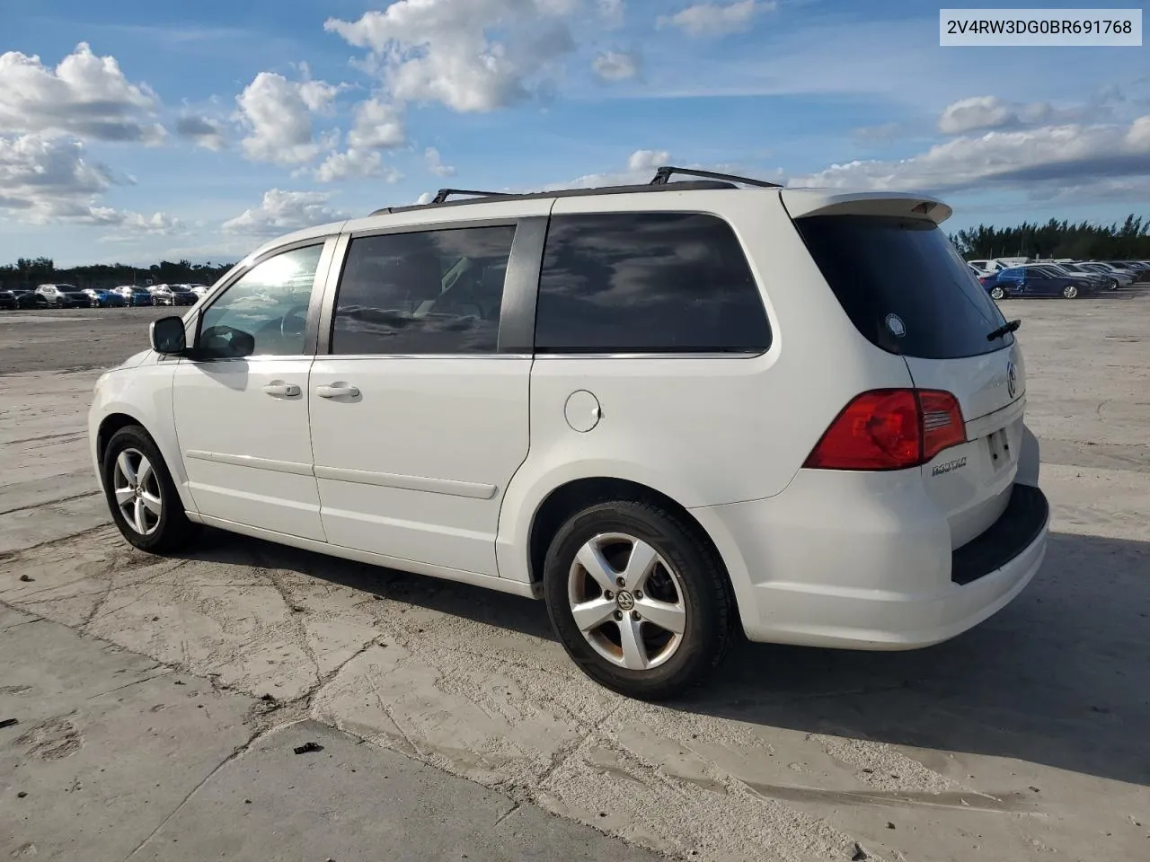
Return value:
<svg viewBox="0 0 1150 862">
<path fill-rule="evenodd" d="M 936 390 L 873 390 L 851 400 L 803 464 L 819 470 L 903 470 L 966 442 L 958 400 Z"/>
</svg>

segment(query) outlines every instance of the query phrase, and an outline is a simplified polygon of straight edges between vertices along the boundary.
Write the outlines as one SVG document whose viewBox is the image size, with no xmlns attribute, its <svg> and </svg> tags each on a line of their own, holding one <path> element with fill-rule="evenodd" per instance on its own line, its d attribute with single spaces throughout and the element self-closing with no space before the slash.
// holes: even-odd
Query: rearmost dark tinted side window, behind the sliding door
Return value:
<svg viewBox="0 0 1150 862">
<path fill-rule="evenodd" d="M 722 220 L 684 213 L 551 220 L 538 351 L 758 353 L 769 343 L 759 288 Z"/>
</svg>

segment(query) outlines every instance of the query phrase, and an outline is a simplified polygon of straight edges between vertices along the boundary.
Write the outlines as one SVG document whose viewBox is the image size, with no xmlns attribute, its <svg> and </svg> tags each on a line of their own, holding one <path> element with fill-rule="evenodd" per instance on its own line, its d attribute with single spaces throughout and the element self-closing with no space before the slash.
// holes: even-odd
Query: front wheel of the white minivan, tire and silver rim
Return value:
<svg viewBox="0 0 1150 862">
<path fill-rule="evenodd" d="M 122 428 L 108 440 L 102 478 L 112 519 L 140 551 L 175 551 L 194 536 L 163 456 L 139 425 Z"/>
</svg>

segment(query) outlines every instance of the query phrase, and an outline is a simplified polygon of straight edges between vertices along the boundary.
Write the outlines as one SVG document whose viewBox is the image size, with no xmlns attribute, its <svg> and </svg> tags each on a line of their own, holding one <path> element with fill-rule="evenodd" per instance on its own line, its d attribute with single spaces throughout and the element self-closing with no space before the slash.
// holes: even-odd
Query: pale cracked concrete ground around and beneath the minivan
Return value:
<svg viewBox="0 0 1150 862">
<path fill-rule="evenodd" d="M 1032 586 L 925 651 L 743 645 L 664 706 L 585 679 L 537 602 L 220 533 L 133 551 L 87 463 L 95 371 L 49 369 L 154 313 L 0 317 L 0 857 L 501 859 L 518 805 L 506 857 L 1147 859 L 1150 290 L 1003 309 L 1053 505 Z M 108 693 L 117 662 L 141 682 Z"/>
</svg>

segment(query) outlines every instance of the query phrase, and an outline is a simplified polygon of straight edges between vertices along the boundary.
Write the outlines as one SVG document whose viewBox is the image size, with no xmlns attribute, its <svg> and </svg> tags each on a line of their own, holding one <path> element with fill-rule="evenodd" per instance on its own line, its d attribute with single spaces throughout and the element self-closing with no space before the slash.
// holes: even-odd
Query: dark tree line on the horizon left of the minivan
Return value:
<svg viewBox="0 0 1150 862">
<path fill-rule="evenodd" d="M 56 269 L 51 257 L 21 257 L 0 265 L 0 290 L 34 290 L 41 284 L 71 284 L 80 290 L 107 290 L 122 284 L 214 284 L 231 269 L 232 263 L 192 263 L 160 261 L 151 267 L 126 263 L 93 263 L 86 267 Z"/>
</svg>

